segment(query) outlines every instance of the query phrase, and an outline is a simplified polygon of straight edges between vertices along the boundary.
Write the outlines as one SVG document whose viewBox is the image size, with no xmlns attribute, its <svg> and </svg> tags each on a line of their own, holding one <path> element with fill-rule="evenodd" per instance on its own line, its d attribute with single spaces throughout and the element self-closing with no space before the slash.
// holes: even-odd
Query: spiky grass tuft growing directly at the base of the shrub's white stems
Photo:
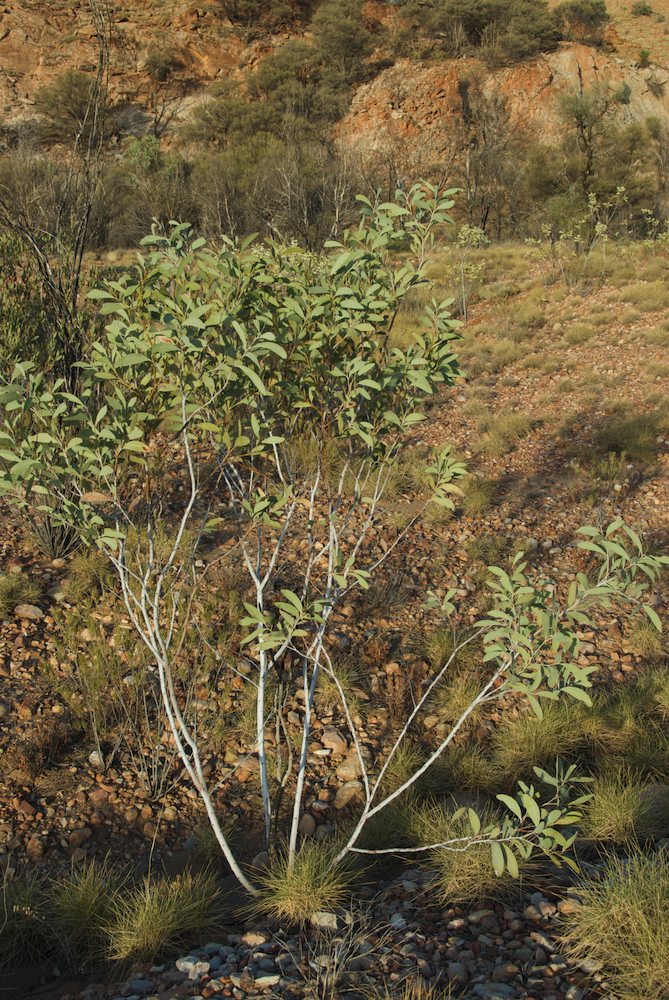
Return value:
<svg viewBox="0 0 669 1000">
<path fill-rule="evenodd" d="M 336 910 L 350 895 L 355 872 L 335 864 L 336 849 L 320 841 L 305 841 L 292 868 L 286 854 L 277 855 L 260 872 L 259 898 L 253 912 L 291 924 L 305 924 L 313 913 Z"/>
</svg>

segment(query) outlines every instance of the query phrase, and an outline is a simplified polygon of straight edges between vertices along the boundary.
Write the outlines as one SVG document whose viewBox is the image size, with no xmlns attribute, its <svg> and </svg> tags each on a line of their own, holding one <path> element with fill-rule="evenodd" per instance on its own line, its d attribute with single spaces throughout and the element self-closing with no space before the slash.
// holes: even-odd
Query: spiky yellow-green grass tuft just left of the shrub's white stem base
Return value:
<svg viewBox="0 0 669 1000">
<path fill-rule="evenodd" d="M 167 880 L 146 878 L 114 900 L 107 928 L 112 958 L 152 962 L 221 929 L 223 897 L 210 872 Z"/>
</svg>

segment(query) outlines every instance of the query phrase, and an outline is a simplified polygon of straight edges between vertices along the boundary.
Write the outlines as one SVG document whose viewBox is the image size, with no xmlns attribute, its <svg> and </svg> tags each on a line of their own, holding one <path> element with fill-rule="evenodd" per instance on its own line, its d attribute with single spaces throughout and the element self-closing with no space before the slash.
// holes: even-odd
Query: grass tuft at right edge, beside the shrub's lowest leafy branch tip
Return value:
<svg viewBox="0 0 669 1000">
<path fill-rule="evenodd" d="M 596 777 L 583 812 L 586 840 L 629 845 L 669 832 L 669 788 L 647 784 L 628 767 Z"/>
</svg>

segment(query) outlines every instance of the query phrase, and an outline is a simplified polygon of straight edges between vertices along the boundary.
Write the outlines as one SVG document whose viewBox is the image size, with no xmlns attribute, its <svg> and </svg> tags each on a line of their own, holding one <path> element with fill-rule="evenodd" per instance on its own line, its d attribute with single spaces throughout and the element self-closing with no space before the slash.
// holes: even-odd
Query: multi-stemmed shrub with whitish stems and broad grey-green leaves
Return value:
<svg viewBox="0 0 669 1000">
<path fill-rule="evenodd" d="M 213 539 L 248 581 L 239 624 L 253 665 L 243 683 L 253 707 L 262 828 L 287 877 L 301 870 L 298 833 L 322 675 L 337 690 L 361 776 L 362 804 L 333 852 L 336 867 L 351 854 L 396 850 L 362 847 L 368 824 L 412 794 L 481 706 L 509 696 L 540 717 L 542 700 L 588 702 L 593 668 L 579 662 L 580 634 L 600 627 L 595 607 L 643 604 L 660 625 L 644 594 L 669 560 L 646 554 L 620 521 L 604 533 L 583 529 L 579 546 L 593 559 L 594 576 L 578 573 L 566 594 L 517 555 L 508 573 L 491 570 L 492 609 L 435 668 L 398 721 L 384 760 L 372 765 L 362 752 L 333 659 L 333 613 L 369 587 L 425 505 L 452 505 L 464 474 L 448 449 L 436 454 L 421 510 L 390 544 L 378 543 L 384 492 L 422 419 L 421 403 L 458 375 L 458 324 L 448 302 L 426 307 L 408 346 L 391 337 L 402 300 L 424 281 L 451 195 L 415 186 L 395 203 L 363 198 L 359 223 L 323 255 L 229 240 L 208 246 L 184 226 L 156 233 L 130 273 L 92 293 L 108 325 L 81 366 L 78 391 L 25 363 L 0 393 L 2 492 L 75 526 L 83 542 L 107 554 L 153 661 L 184 772 L 226 860 L 254 895 L 258 885 L 217 811 L 202 699 L 188 697 L 182 660 L 194 636 L 203 636 L 198 608 L 220 561 L 206 558 Z M 456 614 L 453 597 L 433 598 L 445 618 Z M 218 673 L 237 676 L 238 649 L 235 655 L 217 642 L 207 638 Z M 414 723 L 474 644 L 483 647 L 478 690 L 428 754 L 389 785 Z M 301 693 L 296 747 L 281 691 Z M 573 768 L 536 777 L 545 795 L 539 784 L 519 782 L 513 795 L 499 797 L 499 816 L 456 814 L 453 836 L 409 850 L 485 846 L 498 874 L 518 871 L 537 847 L 559 860 L 575 836 L 582 788 Z"/>
</svg>

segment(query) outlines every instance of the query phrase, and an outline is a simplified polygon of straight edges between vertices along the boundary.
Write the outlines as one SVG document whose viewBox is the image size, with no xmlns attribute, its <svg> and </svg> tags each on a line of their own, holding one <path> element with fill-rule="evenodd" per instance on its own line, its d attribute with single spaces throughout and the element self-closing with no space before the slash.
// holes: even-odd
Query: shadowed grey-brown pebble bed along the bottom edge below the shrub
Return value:
<svg viewBox="0 0 669 1000">
<path fill-rule="evenodd" d="M 586 996 L 586 972 L 569 968 L 556 941 L 560 920 L 574 905 L 568 894 L 555 902 L 532 893 L 516 909 L 441 909 L 425 895 L 428 879 L 422 870 L 407 870 L 363 890 L 346 917 L 314 914 L 313 927 L 301 936 L 265 929 L 230 934 L 174 964 L 143 968 L 116 993 L 90 986 L 77 996 L 326 998 L 364 996 L 365 989 L 369 995 L 370 986 L 394 989 L 417 979 L 471 1000 Z"/>
</svg>

